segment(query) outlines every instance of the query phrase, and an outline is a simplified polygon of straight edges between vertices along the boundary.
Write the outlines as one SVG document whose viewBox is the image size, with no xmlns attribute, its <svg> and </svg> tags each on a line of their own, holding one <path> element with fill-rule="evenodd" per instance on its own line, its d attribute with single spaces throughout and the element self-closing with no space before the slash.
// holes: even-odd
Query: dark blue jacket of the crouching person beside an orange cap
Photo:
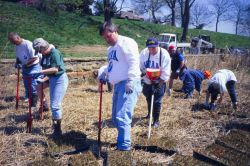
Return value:
<svg viewBox="0 0 250 166">
<path fill-rule="evenodd" d="M 184 93 L 190 93 L 194 90 L 201 90 L 202 81 L 205 79 L 204 74 L 200 70 L 187 69 L 180 75 L 180 80 L 183 81 L 182 91 Z"/>
</svg>

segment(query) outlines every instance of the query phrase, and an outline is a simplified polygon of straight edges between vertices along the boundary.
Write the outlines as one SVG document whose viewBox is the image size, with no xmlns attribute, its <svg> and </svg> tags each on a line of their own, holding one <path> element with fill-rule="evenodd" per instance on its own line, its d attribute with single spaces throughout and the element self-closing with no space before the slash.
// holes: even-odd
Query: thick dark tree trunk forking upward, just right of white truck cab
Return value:
<svg viewBox="0 0 250 166">
<path fill-rule="evenodd" d="M 178 0 L 181 11 L 181 27 L 183 28 L 181 41 L 187 40 L 188 25 L 190 21 L 190 9 L 193 6 L 195 0 Z"/>
</svg>

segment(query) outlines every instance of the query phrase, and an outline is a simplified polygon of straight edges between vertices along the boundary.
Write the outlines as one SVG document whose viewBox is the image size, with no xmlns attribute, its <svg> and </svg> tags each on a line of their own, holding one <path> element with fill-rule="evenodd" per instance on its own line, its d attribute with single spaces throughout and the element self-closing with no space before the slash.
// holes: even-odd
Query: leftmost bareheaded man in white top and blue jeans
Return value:
<svg viewBox="0 0 250 166">
<path fill-rule="evenodd" d="M 15 45 L 16 64 L 15 67 L 22 69 L 23 83 L 25 88 L 25 98 L 31 99 L 32 109 L 36 107 L 37 103 L 37 82 L 33 78 L 32 73 L 41 70 L 39 64 L 39 55 L 35 55 L 35 50 L 32 47 L 32 42 L 21 38 L 17 33 L 10 32 L 8 34 L 9 41 Z M 28 77 L 32 77 L 31 85 L 28 85 Z M 38 77 L 38 75 L 36 76 Z M 29 86 L 31 87 L 31 96 L 29 96 Z"/>
</svg>

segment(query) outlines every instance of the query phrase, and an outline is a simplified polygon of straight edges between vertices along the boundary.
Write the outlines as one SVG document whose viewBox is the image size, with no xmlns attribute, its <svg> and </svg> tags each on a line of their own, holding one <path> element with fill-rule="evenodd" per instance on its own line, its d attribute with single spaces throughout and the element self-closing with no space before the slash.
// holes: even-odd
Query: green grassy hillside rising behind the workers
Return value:
<svg viewBox="0 0 250 166">
<path fill-rule="evenodd" d="M 98 26 L 102 20 L 102 17 L 79 17 L 65 12 L 49 15 L 30 7 L 0 1 L 0 57 L 13 57 L 12 46 L 7 41 L 7 34 L 10 31 L 18 32 L 23 38 L 29 40 L 43 37 L 59 47 L 105 45 L 98 34 Z M 166 25 L 119 19 L 113 21 L 119 25 L 120 34 L 134 38 L 139 43 L 140 49 L 144 47 L 147 37 L 157 37 L 156 34 L 162 32 L 176 34 L 182 32 L 181 28 Z M 189 30 L 188 39 L 198 34 L 210 35 L 213 43 L 219 48 L 226 45 L 250 48 L 250 38 L 225 33 Z"/>
</svg>

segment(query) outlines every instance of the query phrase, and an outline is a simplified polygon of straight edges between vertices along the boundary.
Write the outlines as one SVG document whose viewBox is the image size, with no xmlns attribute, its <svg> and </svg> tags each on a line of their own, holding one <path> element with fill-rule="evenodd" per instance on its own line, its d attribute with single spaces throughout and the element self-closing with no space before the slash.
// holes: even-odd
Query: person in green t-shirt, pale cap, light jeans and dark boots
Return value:
<svg viewBox="0 0 250 166">
<path fill-rule="evenodd" d="M 43 69 L 40 73 L 45 74 L 46 77 L 38 81 L 46 82 L 49 80 L 49 85 L 46 82 L 43 87 L 46 88 L 49 86 L 50 107 L 54 129 L 53 135 L 58 137 L 62 134 L 62 100 L 68 87 L 68 77 L 65 72 L 63 55 L 43 38 L 35 39 L 33 41 L 33 47 L 36 52 L 40 52 L 43 56 L 41 60 Z M 40 89 L 39 92 L 41 92 L 41 86 L 39 86 L 38 89 Z"/>
</svg>

